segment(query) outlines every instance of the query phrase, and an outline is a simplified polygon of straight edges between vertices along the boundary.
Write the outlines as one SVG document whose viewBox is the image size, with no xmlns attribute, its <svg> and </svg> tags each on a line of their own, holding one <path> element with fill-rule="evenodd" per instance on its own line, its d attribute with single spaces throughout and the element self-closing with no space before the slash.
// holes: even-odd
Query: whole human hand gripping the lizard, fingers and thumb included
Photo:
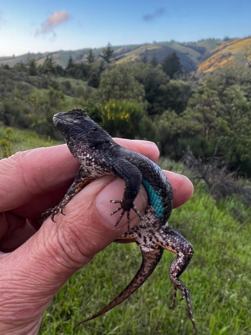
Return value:
<svg viewBox="0 0 251 335">
<path fill-rule="evenodd" d="M 152 159 L 155 145 L 116 139 Z M 71 185 L 78 161 L 66 145 L 18 152 L 0 161 L 0 333 L 34 335 L 54 294 L 74 272 L 127 230 L 123 217 L 117 227 L 114 204 L 124 182 L 113 176 L 95 179 L 64 208 L 65 216 L 48 218 L 37 231 L 37 220 L 54 207 Z M 184 176 L 165 172 L 174 196 L 174 207 L 193 193 Z M 142 188 L 135 203 L 140 211 L 147 196 Z M 119 215 L 119 213 L 117 213 Z M 132 212 L 130 225 L 139 218 Z"/>
</svg>

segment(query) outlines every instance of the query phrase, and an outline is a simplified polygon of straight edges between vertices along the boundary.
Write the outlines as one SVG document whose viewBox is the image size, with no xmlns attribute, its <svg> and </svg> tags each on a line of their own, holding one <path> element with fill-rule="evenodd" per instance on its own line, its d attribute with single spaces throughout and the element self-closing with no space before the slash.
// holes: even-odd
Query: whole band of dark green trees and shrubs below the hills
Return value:
<svg viewBox="0 0 251 335">
<path fill-rule="evenodd" d="M 112 54 L 108 45 L 103 62 L 91 50 L 86 62 L 70 56 L 65 69 L 49 55 L 43 64 L 30 60 L 1 67 L 0 121 L 57 138 L 52 115 L 80 107 L 113 135 L 157 142 L 162 155 L 177 160 L 187 149 L 197 157 L 216 154 L 230 168 L 251 175 L 247 64 L 199 79 L 181 71 L 175 53 L 161 63 L 153 55 L 150 63 L 121 64 L 111 63 Z M 114 101 L 113 117 L 105 117 Z"/>
</svg>

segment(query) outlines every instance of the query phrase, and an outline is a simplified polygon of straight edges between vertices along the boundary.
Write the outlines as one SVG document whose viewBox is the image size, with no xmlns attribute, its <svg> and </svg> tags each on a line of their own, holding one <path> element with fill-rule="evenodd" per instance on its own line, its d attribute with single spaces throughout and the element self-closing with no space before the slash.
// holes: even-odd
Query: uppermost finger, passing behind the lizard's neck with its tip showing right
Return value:
<svg viewBox="0 0 251 335">
<path fill-rule="evenodd" d="M 119 144 L 158 158 L 151 142 L 116 139 Z M 64 188 L 75 177 L 79 162 L 66 145 L 18 152 L 0 161 L 0 212 L 27 204 L 37 196 Z"/>
</svg>

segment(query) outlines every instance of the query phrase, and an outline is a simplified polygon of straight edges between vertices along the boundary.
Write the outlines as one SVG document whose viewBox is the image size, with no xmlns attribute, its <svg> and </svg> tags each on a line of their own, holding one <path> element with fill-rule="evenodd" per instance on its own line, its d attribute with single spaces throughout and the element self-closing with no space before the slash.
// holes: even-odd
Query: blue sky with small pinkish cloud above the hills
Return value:
<svg viewBox="0 0 251 335">
<path fill-rule="evenodd" d="M 251 35 L 251 0 L 0 1 L 0 56 Z"/>
</svg>

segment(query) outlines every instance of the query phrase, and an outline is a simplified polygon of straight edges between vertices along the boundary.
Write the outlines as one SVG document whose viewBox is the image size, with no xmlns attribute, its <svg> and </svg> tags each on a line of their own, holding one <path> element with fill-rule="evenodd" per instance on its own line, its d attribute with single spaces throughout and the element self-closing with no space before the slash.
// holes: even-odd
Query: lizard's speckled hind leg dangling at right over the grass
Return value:
<svg viewBox="0 0 251 335">
<path fill-rule="evenodd" d="M 157 236 L 158 235 L 158 236 Z M 161 246 L 162 248 L 171 251 L 177 256 L 171 262 L 169 266 L 169 278 L 171 279 L 174 290 L 173 290 L 173 302 L 170 308 L 173 308 L 175 305 L 177 289 L 181 292 L 181 299 L 186 300 L 188 317 L 193 324 L 195 333 L 196 325 L 194 321 L 194 316 L 191 307 L 190 293 L 186 286 L 179 279 L 179 276 L 185 271 L 187 265 L 191 261 L 194 249 L 193 245 L 188 242 L 182 235 L 177 231 L 169 228 L 168 226 L 162 226 L 159 233 L 155 233 L 155 243 L 156 245 Z"/>
</svg>

